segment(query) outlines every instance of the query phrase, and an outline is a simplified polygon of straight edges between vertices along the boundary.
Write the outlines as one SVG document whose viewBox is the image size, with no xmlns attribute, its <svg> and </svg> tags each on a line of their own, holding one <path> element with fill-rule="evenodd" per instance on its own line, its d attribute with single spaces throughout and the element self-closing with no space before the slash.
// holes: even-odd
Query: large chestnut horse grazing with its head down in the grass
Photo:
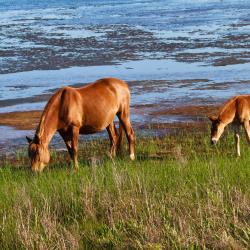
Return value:
<svg viewBox="0 0 250 250">
<path fill-rule="evenodd" d="M 64 87 L 48 101 L 33 139 L 29 142 L 29 157 L 32 171 L 42 171 L 49 163 L 48 145 L 56 131 L 63 138 L 74 169 L 78 169 L 79 134 L 91 134 L 107 129 L 111 148 L 115 156 L 125 130 L 131 160 L 134 155 L 134 131 L 130 123 L 130 91 L 128 85 L 119 79 L 100 79 L 81 88 Z M 119 119 L 117 133 L 114 118 Z"/>
</svg>

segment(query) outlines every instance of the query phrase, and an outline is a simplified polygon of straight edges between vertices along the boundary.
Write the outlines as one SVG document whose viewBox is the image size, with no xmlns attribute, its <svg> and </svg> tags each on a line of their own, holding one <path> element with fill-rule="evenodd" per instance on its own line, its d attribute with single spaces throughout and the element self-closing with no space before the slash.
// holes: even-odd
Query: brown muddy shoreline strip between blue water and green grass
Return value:
<svg viewBox="0 0 250 250">
<path fill-rule="evenodd" d="M 27 146 L 26 136 L 32 137 L 40 121 L 43 110 L 15 111 L 0 113 L 0 155 L 15 155 L 18 150 Z M 161 137 L 175 134 L 178 130 L 192 131 L 207 130 L 209 126 L 208 115 L 218 113 L 217 104 L 204 105 L 179 104 L 172 107 L 167 102 L 155 104 L 131 105 L 131 122 L 139 137 Z M 115 121 L 116 122 L 116 121 Z M 118 126 L 118 124 L 116 125 Z M 106 131 L 94 135 L 80 137 L 80 141 L 106 138 Z M 51 147 L 61 149 L 64 143 L 56 133 L 51 141 Z"/>
</svg>

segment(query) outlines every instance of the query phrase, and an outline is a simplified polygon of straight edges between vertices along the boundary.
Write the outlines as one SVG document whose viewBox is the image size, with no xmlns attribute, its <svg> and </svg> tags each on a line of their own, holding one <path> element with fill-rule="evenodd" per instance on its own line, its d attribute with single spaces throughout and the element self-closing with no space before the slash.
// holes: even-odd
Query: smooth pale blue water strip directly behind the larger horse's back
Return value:
<svg viewBox="0 0 250 250">
<path fill-rule="evenodd" d="M 148 59 L 119 65 L 2 74 L 0 113 L 42 109 L 45 102 L 25 103 L 25 98 L 50 93 L 65 85 L 84 85 L 106 76 L 116 76 L 129 83 L 132 106 L 170 100 L 175 100 L 173 105 L 178 105 L 178 99 L 184 101 L 196 97 L 216 101 L 248 93 L 249 69 L 250 63 L 214 67 L 197 62 Z M 14 102 L 15 105 L 8 106 L 12 98 L 17 99 L 16 103 L 21 103 Z"/>
</svg>

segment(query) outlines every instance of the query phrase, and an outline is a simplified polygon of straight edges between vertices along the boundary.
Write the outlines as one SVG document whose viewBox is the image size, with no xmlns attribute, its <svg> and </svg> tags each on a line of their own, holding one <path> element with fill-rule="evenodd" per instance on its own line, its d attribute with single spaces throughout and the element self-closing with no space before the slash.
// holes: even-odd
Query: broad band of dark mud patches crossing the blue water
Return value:
<svg viewBox="0 0 250 250">
<path fill-rule="evenodd" d="M 249 25 L 249 22 L 243 24 Z M 241 23 L 238 25 L 240 27 Z M 1 27 L 8 32 L 13 28 L 6 25 Z M 228 34 L 211 40 L 206 37 L 193 38 L 184 35 L 163 39 L 158 38 L 150 30 L 116 24 L 85 27 L 90 32 L 100 34 L 97 37 L 65 38 L 57 33 L 34 32 L 22 26 L 16 28 L 19 30 L 12 34 L 11 38 L 34 43 L 38 47 L 0 48 L 0 57 L 5 58 L 0 68 L 1 74 L 56 70 L 73 66 L 115 65 L 122 61 L 141 59 L 168 58 L 181 62 L 203 62 L 213 66 L 250 61 L 249 34 Z M 71 29 L 74 30 L 74 28 Z M 207 33 L 209 35 L 209 32 Z M 219 48 L 221 51 L 210 52 L 209 48 Z M 195 49 L 205 49 L 205 51 L 185 52 L 185 50 Z M 232 52 L 233 49 L 242 49 L 242 51 Z"/>
</svg>

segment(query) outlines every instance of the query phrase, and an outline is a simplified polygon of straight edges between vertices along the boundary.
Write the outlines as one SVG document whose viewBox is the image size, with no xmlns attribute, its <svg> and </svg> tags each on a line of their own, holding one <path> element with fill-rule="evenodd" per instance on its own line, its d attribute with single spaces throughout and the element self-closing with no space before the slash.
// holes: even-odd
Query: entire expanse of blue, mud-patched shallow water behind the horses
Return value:
<svg viewBox="0 0 250 250">
<path fill-rule="evenodd" d="M 0 113 L 42 109 L 56 88 L 112 76 L 130 85 L 133 122 L 175 122 L 183 117 L 136 107 L 250 93 L 249 58 L 248 0 L 0 0 Z"/>
</svg>

